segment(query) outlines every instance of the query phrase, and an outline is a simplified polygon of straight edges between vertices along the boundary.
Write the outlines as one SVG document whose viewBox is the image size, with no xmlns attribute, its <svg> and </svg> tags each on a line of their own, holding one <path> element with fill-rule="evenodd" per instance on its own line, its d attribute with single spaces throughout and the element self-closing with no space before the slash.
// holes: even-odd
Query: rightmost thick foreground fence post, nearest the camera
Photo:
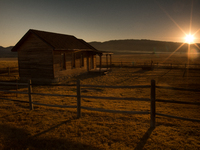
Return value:
<svg viewBox="0 0 200 150">
<path fill-rule="evenodd" d="M 151 122 L 150 122 L 151 128 L 155 128 L 155 118 L 156 118 L 155 97 L 156 97 L 155 80 L 151 80 Z"/>
</svg>

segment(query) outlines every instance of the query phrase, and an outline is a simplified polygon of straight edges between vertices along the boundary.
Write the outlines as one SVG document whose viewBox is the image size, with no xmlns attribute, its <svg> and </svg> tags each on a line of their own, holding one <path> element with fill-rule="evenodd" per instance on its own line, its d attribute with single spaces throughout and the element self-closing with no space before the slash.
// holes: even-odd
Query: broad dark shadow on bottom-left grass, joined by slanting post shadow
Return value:
<svg viewBox="0 0 200 150">
<path fill-rule="evenodd" d="M 79 142 L 71 141 L 68 138 L 52 138 L 52 137 L 39 137 L 65 123 L 70 122 L 67 120 L 60 124 L 51 127 L 35 136 L 31 136 L 24 128 L 16 128 L 9 125 L 0 124 L 0 149 L 90 149 L 100 150 L 97 147 L 82 144 Z"/>
</svg>

